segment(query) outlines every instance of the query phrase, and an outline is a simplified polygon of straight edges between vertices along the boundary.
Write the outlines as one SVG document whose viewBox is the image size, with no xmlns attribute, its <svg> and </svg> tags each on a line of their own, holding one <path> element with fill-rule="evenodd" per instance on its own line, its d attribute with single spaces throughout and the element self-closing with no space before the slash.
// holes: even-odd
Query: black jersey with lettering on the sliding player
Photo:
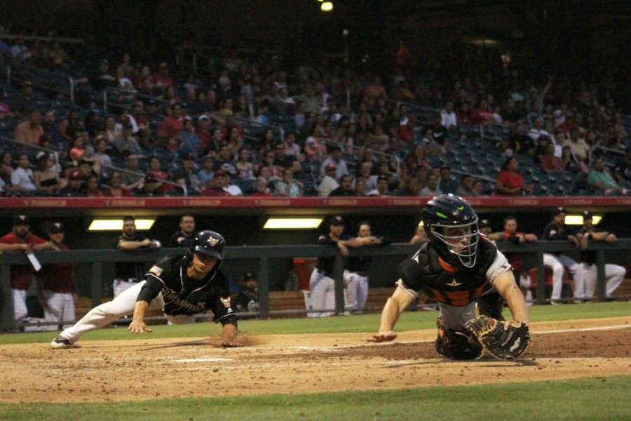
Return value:
<svg viewBox="0 0 631 421">
<path fill-rule="evenodd" d="M 204 279 L 189 279 L 186 276 L 188 264 L 184 255 L 168 255 L 158 260 L 145 274 L 147 283 L 142 286 L 138 300 L 151 302 L 162 293 L 165 314 L 190 316 L 211 310 L 215 323 L 236 321 L 223 272 L 212 270 Z"/>
</svg>

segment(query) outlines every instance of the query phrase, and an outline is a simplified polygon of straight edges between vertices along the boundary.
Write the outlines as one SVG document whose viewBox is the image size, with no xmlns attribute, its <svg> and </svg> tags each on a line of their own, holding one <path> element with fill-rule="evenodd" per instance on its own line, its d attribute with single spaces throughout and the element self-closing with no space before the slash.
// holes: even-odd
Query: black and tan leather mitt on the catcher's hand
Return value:
<svg viewBox="0 0 631 421">
<path fill-rule="evenodd" d="M 510 321 L 504 330 L 503 322 L 478 316 L 468 321 L 466 328 L 496 359 L 515 359 L 524 354 L 530 345 L 528 325 L 523 322 Z"/>
</svg>

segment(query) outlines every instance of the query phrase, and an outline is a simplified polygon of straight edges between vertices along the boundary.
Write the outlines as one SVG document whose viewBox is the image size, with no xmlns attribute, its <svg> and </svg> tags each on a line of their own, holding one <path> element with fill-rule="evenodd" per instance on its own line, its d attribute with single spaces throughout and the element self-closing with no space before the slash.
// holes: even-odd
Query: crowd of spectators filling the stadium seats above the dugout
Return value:
<svg viewBox="0 0 631 421">
<path fill-rule="evenodd" d="M 2 144 L 3 194 L 475 196 L 631 186 L 613 72 L 588 83 L 483 58 L 421 65 L 404 43 L 383 78 L 239 51 L 212 58 L 204 74 L 128 54 L 79 62 L 58 44 L 21 39 L 4 51 L 12 65 L 85 67 L 76 83 L 87 94 L 61 112 L 42 108 L 28 79 L 19 92 L 3 86 L 0 121 L 20 142 Z M 104 89 L 118 107 L 105 111 L 96 99 Z M 473 153 L 480 142 L 496 162 Z M 583 189 L 538 188 L 555 173 Z"/>
</svg>

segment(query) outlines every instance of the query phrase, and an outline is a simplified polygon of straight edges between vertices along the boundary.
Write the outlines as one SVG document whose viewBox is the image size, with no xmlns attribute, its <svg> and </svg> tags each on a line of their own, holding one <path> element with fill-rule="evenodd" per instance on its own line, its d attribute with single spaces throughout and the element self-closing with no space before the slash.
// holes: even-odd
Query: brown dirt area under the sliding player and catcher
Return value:
<svg viewBox="0 0 631 421">
<path fill-rule="evenodd" d="M 214 339 L 88 341 L 0 346 L 1 402 L 143 400 L 474 385 L 631 375 L 631 317 L 532 323 L 520 361 L 454 362 L 433 351 L 435 330 L 369 344 L 362 333 L 260 335 L 247 346 Z M 552 330 L 566 330 L 551 333 Z"/>
</svg>

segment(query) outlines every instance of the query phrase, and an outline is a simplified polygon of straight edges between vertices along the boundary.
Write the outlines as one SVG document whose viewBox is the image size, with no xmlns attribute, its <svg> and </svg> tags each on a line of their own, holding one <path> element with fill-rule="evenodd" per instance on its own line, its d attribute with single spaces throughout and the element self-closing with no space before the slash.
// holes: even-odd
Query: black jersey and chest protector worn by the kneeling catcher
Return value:
<svg viewBox="0 0 631 421">
<path fill-rule="evenodd" d="M 480 236 L 477 261 L 471 268 L 449 265 L 429 241 L 401 262 L 397 284 L 415 298 L 422 291 L 430 300 L 463 307 L 493 288 L 495 279 L 510 269 L 508 260 L 484 236 Z"/>
</svg>

